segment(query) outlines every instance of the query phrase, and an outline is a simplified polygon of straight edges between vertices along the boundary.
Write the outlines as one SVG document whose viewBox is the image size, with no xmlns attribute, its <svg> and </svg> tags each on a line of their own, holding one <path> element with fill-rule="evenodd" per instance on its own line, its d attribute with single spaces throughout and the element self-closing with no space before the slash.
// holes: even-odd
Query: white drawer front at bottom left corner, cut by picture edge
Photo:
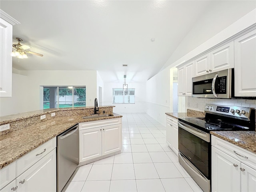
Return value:
<svg viewBox="0 0 256 192">
<path fill-rule="evenodd" d="M 16 178 L 16 162 L 0 170 L 0 189 Z"/>
</svg>

